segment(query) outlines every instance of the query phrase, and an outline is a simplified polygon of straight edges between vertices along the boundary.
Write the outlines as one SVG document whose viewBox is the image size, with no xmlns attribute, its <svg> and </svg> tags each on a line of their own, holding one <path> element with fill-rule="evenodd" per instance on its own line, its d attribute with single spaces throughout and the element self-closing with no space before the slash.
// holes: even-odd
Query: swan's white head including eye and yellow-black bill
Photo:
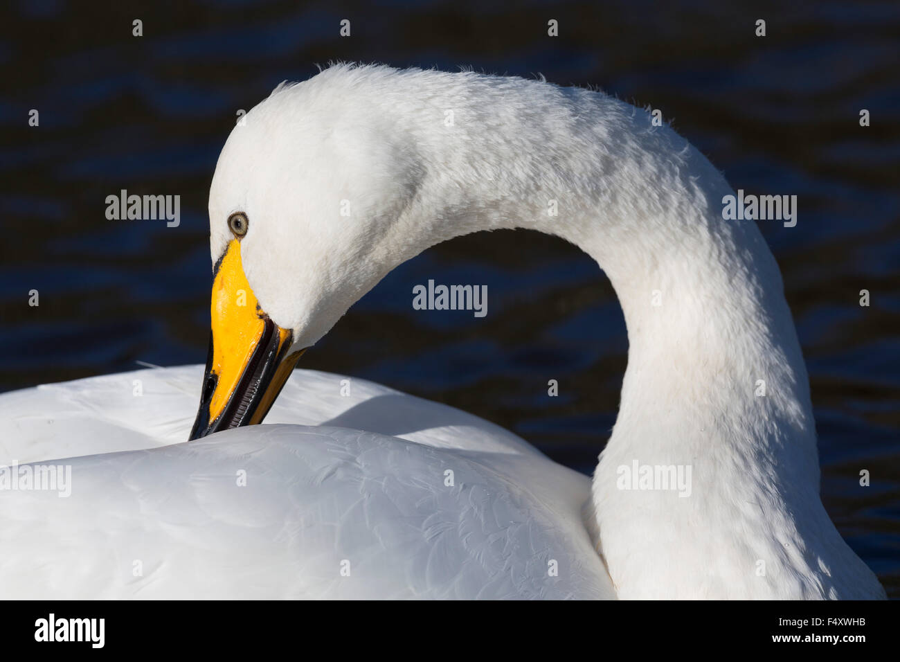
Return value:
<svg viewBox="0 0 900 662">
<path fill-rule="evenodd" d="M 211 341 L 190 439 L 261 422 L 300 355 L 427 248 L 408 147 L 317 79 L 279 86 L 231 131 L 209 200 Z"/>
</svg>

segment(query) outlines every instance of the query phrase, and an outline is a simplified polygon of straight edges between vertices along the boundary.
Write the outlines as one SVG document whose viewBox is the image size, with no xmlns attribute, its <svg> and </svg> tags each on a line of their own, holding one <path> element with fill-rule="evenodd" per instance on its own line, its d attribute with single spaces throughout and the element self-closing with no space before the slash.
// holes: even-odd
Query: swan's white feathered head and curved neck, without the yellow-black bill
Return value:
<svg viewBox="0 0 900 662">
<path fill-rule="evenodd" d="M 257 243 L 241 250 L 257 298 L 298 342 L 392 268 L 468 232 L 544 231 L 606 271 L 628 367 L 586 523 L 620 597 L 883 594 L 818 496 L 778 266 L 754 222 L 725 221 L 732 190 L 687 141 L 606 95 L 473 73 L 329 68 L 261 106 L 249 132 L 232 132 L 235 154 L 222 152 L 211 214 L 247 202 L 247 177 L 278 186 L 252 201 Z M 238 157 L 260 142 L 282 159 L 245 168 Z M 293 222 L 266 224 L 276 217 Z M 287 293 L 283 273 L 302 291 Z M 649 468 L 649 483 L 631 467 Z M 688 483 L 662 484 L 669 469 Z"/>
</svg>

